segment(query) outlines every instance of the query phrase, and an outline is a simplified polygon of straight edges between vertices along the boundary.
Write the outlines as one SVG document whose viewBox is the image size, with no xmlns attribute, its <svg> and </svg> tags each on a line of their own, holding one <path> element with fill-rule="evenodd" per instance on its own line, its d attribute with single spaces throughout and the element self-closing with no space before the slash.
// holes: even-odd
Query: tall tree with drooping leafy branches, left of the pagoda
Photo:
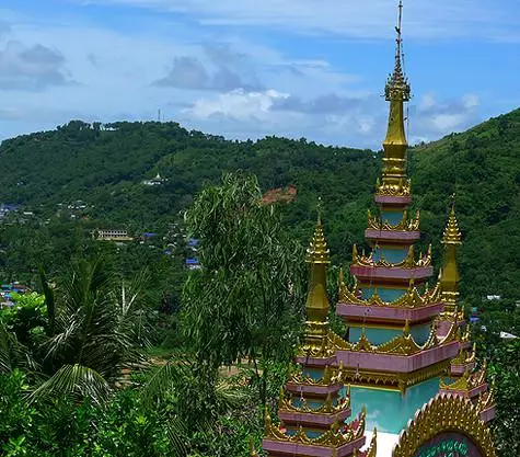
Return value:
<svg viewBox="0 0 520 457">
<path fill-rule="evenodd" d="M 201 269 L 184 289 L 184 329 L 197 361 L 211 369 L 253 363 L 261 402 L 274 361 L 289 361 L 303 317 L 301 247 L 255 176 L 226 174 L 186 215 Z"/>
</svg>

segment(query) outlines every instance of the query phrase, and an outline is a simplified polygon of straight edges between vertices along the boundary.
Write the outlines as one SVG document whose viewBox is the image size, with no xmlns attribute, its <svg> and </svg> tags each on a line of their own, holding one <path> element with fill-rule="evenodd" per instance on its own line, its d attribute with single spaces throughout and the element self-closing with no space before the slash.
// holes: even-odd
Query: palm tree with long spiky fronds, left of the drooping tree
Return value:
<svg viewBox="0 0 520 457">
<path fill-rule="evenodd" d="M 79 263 L 56 287 L 45 281 L 46 301 L 51 306 L 41 366 L 47 379 L 31 399 L 74 395 L 101 403 L 123 368 L 143 362 L 146 279 L 141 274 L 125 285 L 96 259 Z"/>
</svg>

